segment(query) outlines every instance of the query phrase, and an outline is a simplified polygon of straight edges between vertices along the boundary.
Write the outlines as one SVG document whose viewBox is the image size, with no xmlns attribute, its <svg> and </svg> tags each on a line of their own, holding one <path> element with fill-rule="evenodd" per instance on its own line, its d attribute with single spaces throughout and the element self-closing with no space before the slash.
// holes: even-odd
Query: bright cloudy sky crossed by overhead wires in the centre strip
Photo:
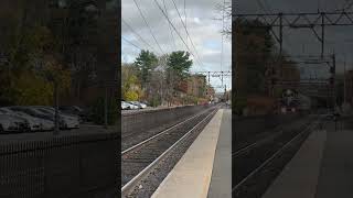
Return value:
<svg viewBox="0 0 353 198">
<path fill-rule="evenodd" d="M 195 57 L 192 72 L 218 72 L 231 70 L 232 64 L 232 45 L 231 38 L 224 36 L 223 42 L 223 64 L 221 66 L 222 54 L 222 12 L 216 9 L 223 0 L 158 0 L 162 9 L 167 9 L 167 14 L 170 21 L 178 30 L 180 36 L 188 44 L 192 54 Z M 176 12 L 180 12 L 182 20 L 185 22 L 190 37 L 195 46 L 192 46 L 190 38 L 184 30 L 181 19 Z M 229 0 L 226 0 L 229 1 Z M 151 31 L 146 25 L 142 16 L 139 13 L 133 0 L 121 1 L 121 61 L 131 63 L 142 50 L 150 50 L 157 55 L 170 53 L 173 51 L 188 51 L 183 41 L 178 36 L 178 33 L 170 26 L 162 11 L 154 3 L 154 0 L 136 0 L 142 14 L 146 18 Z M 185 9 L 184 9 L 185 4 Z M 127 23 L 127 24 L 126 24 Z M 225 25 L 229 21 L 225 21 Z M 142 38 L 137 36 L 130 28 L 138 33 Z M 171 31 L 172 30 L 172 33 Z M 154 34 L 154 41 L 151 32 Z M 125 41 L 127 40 L 127 41 Z M 143 41 L 142 41 L 143 40 Z M 135 46 L 136 45 L 136 46 Z M 160 46 L 160 47 L 159 47 Z M 223 91 L 221 79 L 213 77 L 211 84 L 216 87 L 216 90 Z M 227 89 L 232 88 L 232 78 L 225 78 Z"/>
</svg>

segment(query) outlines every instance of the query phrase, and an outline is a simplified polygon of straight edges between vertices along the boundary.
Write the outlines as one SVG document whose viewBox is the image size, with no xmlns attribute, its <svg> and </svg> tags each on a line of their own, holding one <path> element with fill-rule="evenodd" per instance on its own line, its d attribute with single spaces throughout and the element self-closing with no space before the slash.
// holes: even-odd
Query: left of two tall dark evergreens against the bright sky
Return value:
<svg viewBox="0 0 353 198">
<path fill-rule="evenodd" d="M 141 51 L 136 58 L 135 66 L 139 70 L 139 78 L 141 79 L 142 87 L 146 87 L 146 82 L 149 80 L 149 74 L 157 67 L 158 58 L 149 51 Z"/>
</svg>

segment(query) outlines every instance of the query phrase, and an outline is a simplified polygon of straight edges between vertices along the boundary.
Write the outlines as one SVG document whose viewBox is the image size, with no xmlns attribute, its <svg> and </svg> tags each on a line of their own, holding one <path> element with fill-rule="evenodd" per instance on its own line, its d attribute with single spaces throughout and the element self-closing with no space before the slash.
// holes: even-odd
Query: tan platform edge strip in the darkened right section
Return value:
<svg viewBox="0 0 353 198">
<path fill-rule="evenodd" d="M 314 198 L 327 131 L 313 131 L 263 198 Z"/>
</svg>

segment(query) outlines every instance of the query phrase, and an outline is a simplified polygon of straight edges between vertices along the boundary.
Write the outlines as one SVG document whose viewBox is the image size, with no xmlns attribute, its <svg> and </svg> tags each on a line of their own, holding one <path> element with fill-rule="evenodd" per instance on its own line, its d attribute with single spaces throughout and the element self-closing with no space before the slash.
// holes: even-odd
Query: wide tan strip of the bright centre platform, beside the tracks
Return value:
<svg viewBox="0 0 353 198">
<path fill-rule="evenodd" d="M 212 176 L 223 111 L 218 110 L 152 198 L 205 198 Z"/>
</svg>

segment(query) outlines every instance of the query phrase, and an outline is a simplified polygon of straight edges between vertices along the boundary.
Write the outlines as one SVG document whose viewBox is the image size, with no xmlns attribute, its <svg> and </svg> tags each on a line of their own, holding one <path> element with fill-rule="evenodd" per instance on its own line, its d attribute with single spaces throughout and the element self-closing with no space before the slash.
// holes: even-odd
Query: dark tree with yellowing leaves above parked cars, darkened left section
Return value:
<svg viewBox="0 0 353 198">
<path fill-rule="evenodd" d="M 69 73 L 61 63 L 52 31 L 40 21 L 29 25 L 25 18 L 0 20 L 6 21 L 9 28 L 9 34 L 4 33 L 1 37 L 4 45 L 1 48 L 0 75 L 1 79 L 7 79 L 0 86 L 1 103 L 52 105 L 54 79 L 60 81 L 63 91 L 71 84 Z"/>
</svg>

